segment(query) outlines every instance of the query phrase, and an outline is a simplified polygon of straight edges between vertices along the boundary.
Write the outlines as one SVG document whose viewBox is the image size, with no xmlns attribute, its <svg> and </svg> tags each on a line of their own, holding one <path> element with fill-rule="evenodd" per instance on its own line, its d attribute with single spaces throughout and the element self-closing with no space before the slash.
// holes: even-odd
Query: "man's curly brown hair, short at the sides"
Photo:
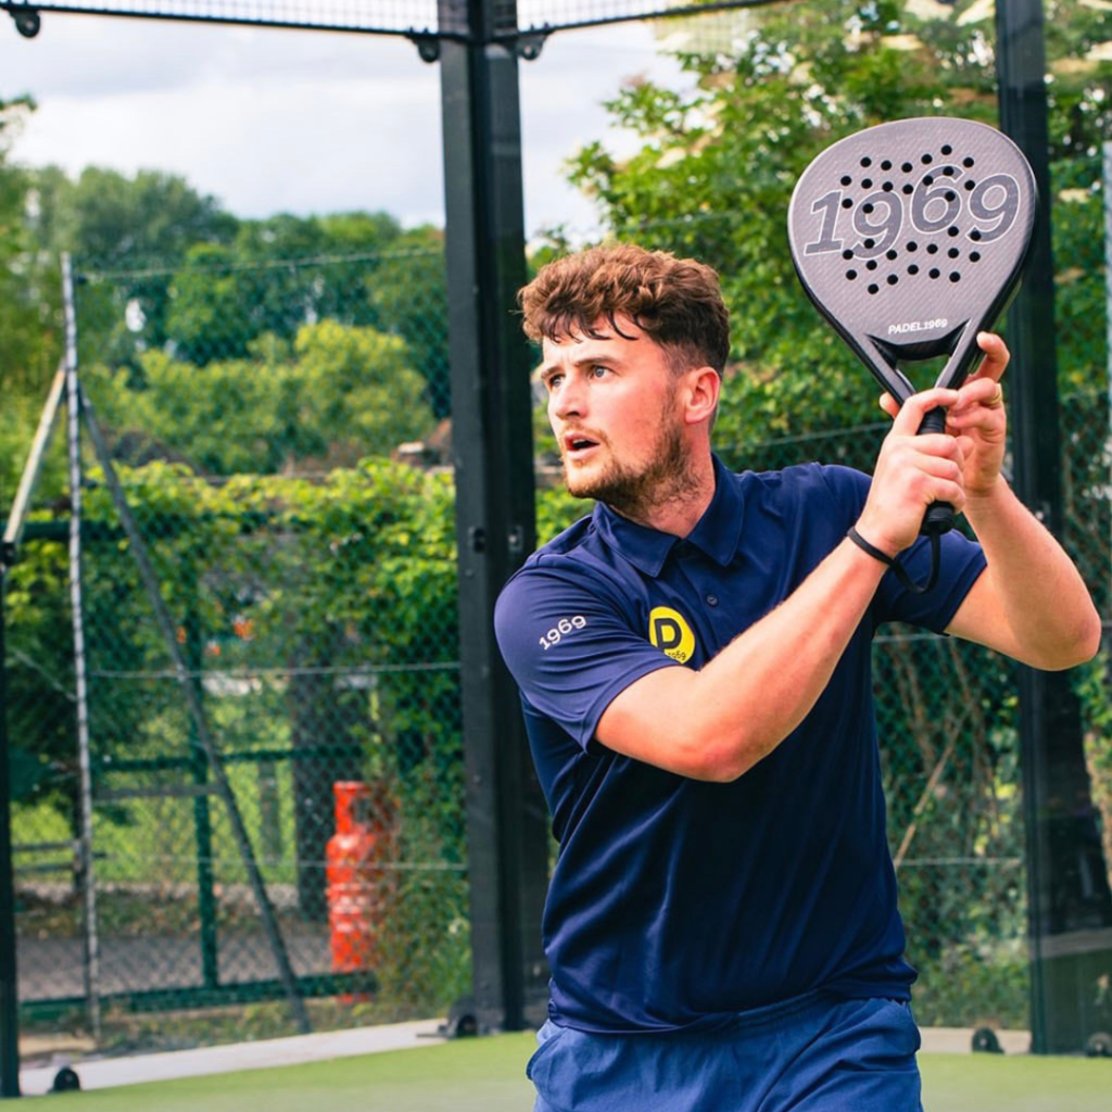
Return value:
<svg viewBox="0 0 1112 1112">
<path fill-rule="evenodd" d="M 695 259 L 610 244 L 567 255 L 542 267 L 518 295 L 529 339 L 599 338 L 607 321 L 632 320 L 668 354 L 677 370 L 713 367 L 723 374 L 729 355 L 729 310 L 718 275 Z"/>
</svg>

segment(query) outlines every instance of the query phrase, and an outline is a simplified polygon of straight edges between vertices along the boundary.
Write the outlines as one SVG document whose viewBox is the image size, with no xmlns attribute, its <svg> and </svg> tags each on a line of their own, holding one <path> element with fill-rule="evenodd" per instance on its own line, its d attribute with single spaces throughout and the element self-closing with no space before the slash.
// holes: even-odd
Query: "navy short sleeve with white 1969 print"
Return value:
<svg viewBox="0 0 1112 1112">
<path fill-rule="evenodd" d="M 526 703 L 583 748 L 616 695 L 682 667 L 635 632 L 614 588 L 582 568 L 526 565 L 495 607 L 498 647 Z"/>
</svg>

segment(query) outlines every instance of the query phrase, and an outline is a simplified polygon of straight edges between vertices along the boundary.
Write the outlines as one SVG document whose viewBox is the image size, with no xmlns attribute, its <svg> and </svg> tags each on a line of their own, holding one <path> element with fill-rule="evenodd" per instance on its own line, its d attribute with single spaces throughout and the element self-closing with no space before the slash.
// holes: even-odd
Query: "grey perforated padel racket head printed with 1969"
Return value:
<svg viewBox="0 0 1112 1112">
<path fill-rule="evenodd" d="M 1015 292 L 1036 211 L 1034 175 L 1001 131 L 919 117 L 866 128 L 796 182 L 788 241 L 803 288 L 885 389 L 941 356 L 956 386 Z"/>
</svg>

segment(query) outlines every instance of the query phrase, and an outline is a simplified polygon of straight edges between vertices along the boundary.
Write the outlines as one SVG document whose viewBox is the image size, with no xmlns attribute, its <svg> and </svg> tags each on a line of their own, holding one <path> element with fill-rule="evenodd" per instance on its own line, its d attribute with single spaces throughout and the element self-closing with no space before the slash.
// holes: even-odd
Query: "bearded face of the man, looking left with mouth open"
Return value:
<svg viewBox="0 0 1112 1112">
<path fill-rule="evenodd" d="M 617 324 L 624 336 L 598 321 L 605 338 L 545 340 L 540 378 L 568 492 L 639 518 L 686 474 L 679 379 L 654 340 Z"/>
</svg>

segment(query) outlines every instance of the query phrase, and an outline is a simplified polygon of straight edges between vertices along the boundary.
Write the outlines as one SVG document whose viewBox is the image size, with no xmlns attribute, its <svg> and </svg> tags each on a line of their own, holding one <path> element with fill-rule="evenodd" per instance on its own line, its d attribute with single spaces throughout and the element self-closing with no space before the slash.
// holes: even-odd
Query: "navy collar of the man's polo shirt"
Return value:
<svg viewBox="0 0 1112 1112">
<path fill-rule="evenodd" d="M 744 509 L 741 487 L 722 460 L 714 456 L 714 497 L 686 537 L 637 525 L 603 503 L 596 503 L 594 519 L 596 528 L 613 548 L 639 572 L 656 578 L 668 554 L 681 544 L 698 548 L 721 567 L 726 567 L 741 544 Z"/>
</svg>

